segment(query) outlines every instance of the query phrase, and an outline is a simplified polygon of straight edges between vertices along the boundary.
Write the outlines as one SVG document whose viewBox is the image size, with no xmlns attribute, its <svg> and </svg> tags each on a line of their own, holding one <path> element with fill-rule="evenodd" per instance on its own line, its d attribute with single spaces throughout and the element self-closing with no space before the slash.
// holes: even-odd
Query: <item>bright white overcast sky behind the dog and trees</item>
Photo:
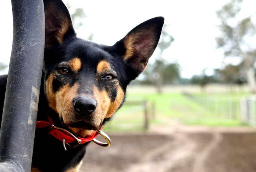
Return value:
<svg viewBox="0 0 256 172">
<path fill-rule="evenodd" d="M 80 38 L 86 39 L 93 33 L 93 41 L 113 45 L 139 23 L 163 16 L 165 23 L 170 24 L 168 32 L 175 39 L 163 56 L 169 62 L 176 61 L 181 65 L 183 77 L 188 78 L 200 74 L 204 68 L 219 68 L 222 65 L 222 50 L 216 50 L 215 42 L 215 37 L 219 35 L 216 11 L 229 0 L 63 1 L 85 11 L 87 18 L 77 30 Z M 256 1 L 244 0 L 241 16 L 254 14 L 255 7 Z M 11 1 L 1 2 L 0 16 L 0 62 L 8 64 L 12 44 Z M 157 54 L 158 51 L 155 51 L 151 63 Z M 235 59 L 230 62 L 236 63 Z"/>
</svg>

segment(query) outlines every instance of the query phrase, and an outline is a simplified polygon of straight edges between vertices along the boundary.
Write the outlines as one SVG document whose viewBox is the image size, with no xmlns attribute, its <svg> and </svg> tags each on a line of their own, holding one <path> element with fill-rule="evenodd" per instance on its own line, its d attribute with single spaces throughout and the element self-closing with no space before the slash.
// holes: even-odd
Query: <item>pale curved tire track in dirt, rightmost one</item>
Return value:
<svg viewBox="0 0 256 172">
<path fill-rule="evenodd" d="M 213 148 L 218 146 L 222 140 L 222 135 L 219 132 L 213 133 L 213 139 L 211 142 L 204 147 L 204 149 L 197 155 L 194 161 L 193 172 L 206 172 L 205 161 L 206 158 L 210 155 Z"/>
</svg>

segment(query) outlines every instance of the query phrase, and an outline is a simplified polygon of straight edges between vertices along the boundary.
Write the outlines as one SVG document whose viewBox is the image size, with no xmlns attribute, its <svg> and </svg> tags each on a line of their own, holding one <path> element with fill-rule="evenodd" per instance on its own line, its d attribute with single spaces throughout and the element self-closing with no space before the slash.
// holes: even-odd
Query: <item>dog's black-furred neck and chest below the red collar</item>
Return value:
<svg viewBox="0 0 256 172">
<path fill-rule="evenodd" d="M 75 148 L 63 149 L 62 142 L 43 129 L 37 128 L 34 142 L 32 167 L 41 171 L 66 171 L 82 161 L 88 143 Z M 42 160 L 44 161 L 42 163 Z"/>
</svg>

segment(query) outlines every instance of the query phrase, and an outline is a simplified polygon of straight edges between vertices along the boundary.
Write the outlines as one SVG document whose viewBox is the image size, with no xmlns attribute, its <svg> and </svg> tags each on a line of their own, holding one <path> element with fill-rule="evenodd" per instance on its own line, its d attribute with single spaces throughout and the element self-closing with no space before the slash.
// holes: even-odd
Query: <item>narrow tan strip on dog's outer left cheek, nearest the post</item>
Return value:
<svg viewBox="0 0 256 172">
<path fill-rule="evenodd" d="M 46 80 L 46 97 L 48 99 L 50 108 L 57 112 L 55 99 L 56 95 L 53 92 L 53 73 L 51 73 Z"/>
</svg>

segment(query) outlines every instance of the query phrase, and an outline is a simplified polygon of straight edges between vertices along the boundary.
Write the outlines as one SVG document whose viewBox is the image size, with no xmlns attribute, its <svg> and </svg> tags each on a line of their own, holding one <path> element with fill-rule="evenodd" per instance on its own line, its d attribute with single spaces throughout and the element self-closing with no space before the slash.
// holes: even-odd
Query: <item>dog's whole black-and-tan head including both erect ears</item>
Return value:
<svg viewBox="0 0 256 172">
<path fill-rule="evenodd" d="M 146 67 L 163 18 L 136 26 L 113 46 L 76 37 L 65 5 L 45 0 L 45 94 L 58 119 L 85 137 L 120 108 L 127 85 Z"/>
</svg>

